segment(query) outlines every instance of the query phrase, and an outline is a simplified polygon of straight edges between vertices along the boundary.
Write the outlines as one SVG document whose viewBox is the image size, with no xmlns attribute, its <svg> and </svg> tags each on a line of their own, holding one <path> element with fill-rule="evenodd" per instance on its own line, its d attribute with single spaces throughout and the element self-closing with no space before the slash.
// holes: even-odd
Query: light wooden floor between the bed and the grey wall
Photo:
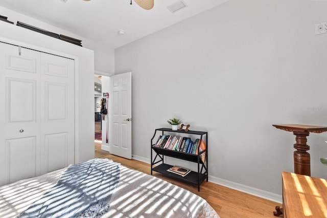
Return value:
<svg viewBox="0 0 327 218">
<path fill-rule="evenodd" d="M 109 154 L 109 152 L 101 150 L 101 143 L 95 143 L 95 147 L 96 158 L 111 159 L 115 162 L 121 163 L 122 165 L 128 168 L 142 171 L 149 175 L 151 174 L 150 164 L 148 163 L 144 163 L 142 161 L 137 160 L 129 160 L 111 155 Z M 226 188 L 224 186 L 220 186 L 211 182 L 204 181 L 200 186 L 200 192 L 198 192 L 196 185 L 172 180 L 157 172 L 153 172 L 153 176 L 162 180 L 166 180 L 172 184 L 180 186 L 201 196 L 217 211 L 221 218 L 276 217 L 273 215 L 275 206 L 278 205 L 282 207 L 281 204 L 258 198 L 253 195 L 236 191 L 230 188 Z"/>
</svg>

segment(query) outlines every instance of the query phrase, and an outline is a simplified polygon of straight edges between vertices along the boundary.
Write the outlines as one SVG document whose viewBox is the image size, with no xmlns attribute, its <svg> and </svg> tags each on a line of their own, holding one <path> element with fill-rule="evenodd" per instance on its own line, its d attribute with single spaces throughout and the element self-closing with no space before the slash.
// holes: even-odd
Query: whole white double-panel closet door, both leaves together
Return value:
<svg viewBox="0 0 327 218">
<path fill-rule="evenodd" d="M 74 60 L 0 42 L 0 185 L 74 163 Z"/>
</svg>

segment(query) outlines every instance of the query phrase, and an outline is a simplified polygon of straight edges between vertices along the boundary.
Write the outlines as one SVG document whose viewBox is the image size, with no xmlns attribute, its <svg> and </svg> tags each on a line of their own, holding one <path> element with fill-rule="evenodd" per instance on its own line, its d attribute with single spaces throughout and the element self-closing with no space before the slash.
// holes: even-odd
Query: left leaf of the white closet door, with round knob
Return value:
<svg viewBox="0 0 327 218">
<path fill-rule="evenodd" d="M 40 175 L 39 61 L 0 43 L 0 185 Z"/>
</svg>

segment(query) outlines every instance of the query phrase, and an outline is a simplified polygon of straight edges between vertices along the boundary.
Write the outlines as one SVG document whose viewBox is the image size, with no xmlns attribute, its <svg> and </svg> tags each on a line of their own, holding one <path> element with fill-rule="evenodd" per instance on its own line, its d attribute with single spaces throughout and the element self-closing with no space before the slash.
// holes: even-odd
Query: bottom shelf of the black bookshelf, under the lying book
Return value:
<svg viewBox="0 0 327 218">
<path fill-rule="evenodd" d="M 169 165 L 169 164 L 160 164 L 156 167 L 153 167 L 152 170 L 156 171 L 156 172 L 160 172 L 163 175 L 169 176 L 171 178 L 177 179 L 177 180 L 181 180 L 181 181 L 185 181 L 185 182 L 189 182 L 195 185 L 200 185 L 205 179 L 206 179 L 206 175 L 202 174 L 202 173 L 197 173 L 194 171 L 191 171 L 190 173 L 188 173 L 188 175 L 186 175 L 185 177 L 179 176 L 176 173 L 173 172 L 168 172 L 167 169 L 173 167 L 173 165 Z M 198 181 L 198 174 L 199 174 L 199 181 Z"/>
</svg>

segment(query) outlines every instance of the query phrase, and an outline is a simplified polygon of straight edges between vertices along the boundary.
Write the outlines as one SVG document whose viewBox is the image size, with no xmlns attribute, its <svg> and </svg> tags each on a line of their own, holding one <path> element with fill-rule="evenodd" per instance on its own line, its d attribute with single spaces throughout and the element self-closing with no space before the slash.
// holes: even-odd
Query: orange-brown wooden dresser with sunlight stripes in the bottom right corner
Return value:
<svg viewBox="0 0 327 218">
<path fill-rule="evenodd" d="M 327 217 L 326 180 L 291 172 L 282 175 L 284 217 Z"/>
</svg>

